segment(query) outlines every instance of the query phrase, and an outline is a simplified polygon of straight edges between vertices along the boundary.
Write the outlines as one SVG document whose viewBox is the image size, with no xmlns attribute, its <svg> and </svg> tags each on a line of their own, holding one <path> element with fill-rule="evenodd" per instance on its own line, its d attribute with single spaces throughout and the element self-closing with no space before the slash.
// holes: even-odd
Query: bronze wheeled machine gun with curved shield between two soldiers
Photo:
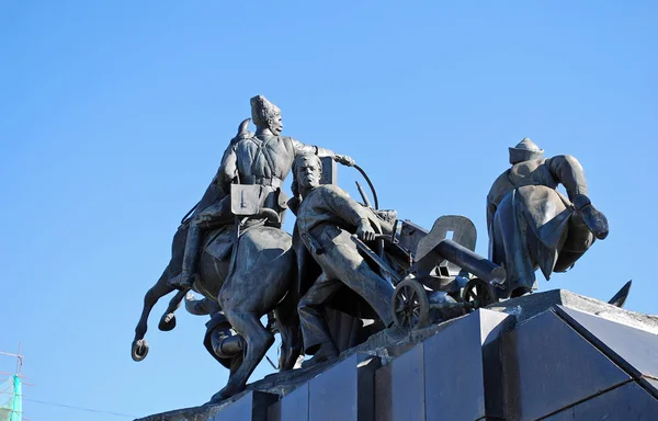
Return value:
<svg viewBox="0 0 658 421">
<path fill-rule="evenodd" d="M 494 284 L 504 281 L 504 269 L 475 253 L 477 232 L 464 216 L 442 216 L 430 231 L 396 221 L 389 236 L 374 244 L 354 236 L 373 268 L 394 286 L 393 319 L 401 329 L 465 315 L 496 303 Z"/>
</svg>

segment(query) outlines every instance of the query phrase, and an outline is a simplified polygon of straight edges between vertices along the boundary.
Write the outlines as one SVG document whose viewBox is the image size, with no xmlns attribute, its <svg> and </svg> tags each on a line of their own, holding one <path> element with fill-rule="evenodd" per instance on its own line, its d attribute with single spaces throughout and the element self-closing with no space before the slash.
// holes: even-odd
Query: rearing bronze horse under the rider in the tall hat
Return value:
<svg viewBox="0 0 658 421">
<path fill-rule="evenodd" d="M 297 263 L 292 236 L 263 225 L 263 216 L 268 215 L 256 215 L 253 224 L 250 225 L 250 220 L 241 228 L 228 225 L 211 231 L 201 254 L 194 291 L 216 300 L 231 329 L 246 341 L 243 354 L 236 359 L 237 364 L 230 365 L 227 385 L 213 396 L 212 401 L 220 401 L 242 391 L 249 376 L 274 343 L 273 333 L 260 322 L 262 316 L 274 312 L 282 343 L 279 360 L 281 371 L 292 369 L 302 352 L 295 294 Z M 257 221 L 259 218 L 260 221 Z M 237 229 L 241 230 L 239 238 L 236 236 Z M 185 236 L 186 226 L 182 224 L 172 241 L 170 263 L 144 297 L 144 308 L 132 344 L 134 361 L 143 361 L 148 354 L 148 343 L 144 337 L 152 307 L 161 297 L 174 291 L 169 280 L 180 266 Z M 184 296 L 185 292 L 181 291 L 171 299 L 160 320 L 160 330 L 168 331 L 175 327 L 173 312 Z"/>
</svg>

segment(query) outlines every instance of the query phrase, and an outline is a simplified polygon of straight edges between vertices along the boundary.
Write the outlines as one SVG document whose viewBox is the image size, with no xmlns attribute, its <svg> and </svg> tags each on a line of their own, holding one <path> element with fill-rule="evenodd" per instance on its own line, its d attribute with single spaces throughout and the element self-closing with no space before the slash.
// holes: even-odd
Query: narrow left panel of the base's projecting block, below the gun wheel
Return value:
<svg viewBox="0 0 658 421">
<path fill-rule="evenodd" d="M 375 390 L 377 421 L 423 421 L 423 346 L 417 345 L 377 369 Z"/>
</svg>

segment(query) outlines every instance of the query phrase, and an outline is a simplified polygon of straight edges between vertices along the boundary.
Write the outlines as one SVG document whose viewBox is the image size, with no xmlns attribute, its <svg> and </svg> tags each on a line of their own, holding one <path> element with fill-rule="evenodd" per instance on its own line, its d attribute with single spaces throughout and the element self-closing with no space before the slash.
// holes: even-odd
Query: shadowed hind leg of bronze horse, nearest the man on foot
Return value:
<svg viewBox="0 0 658 421">
<path fill-rule="evenodd" d="M 288 291 L 285 298 L 274 310 L 281 333 L 281 356 L 279 367 L 282 372 L 293 369 L 302 354 L 302 331 L 299 330 L 299 314 L 297 312 L 296 294 Z"/>
</svg>

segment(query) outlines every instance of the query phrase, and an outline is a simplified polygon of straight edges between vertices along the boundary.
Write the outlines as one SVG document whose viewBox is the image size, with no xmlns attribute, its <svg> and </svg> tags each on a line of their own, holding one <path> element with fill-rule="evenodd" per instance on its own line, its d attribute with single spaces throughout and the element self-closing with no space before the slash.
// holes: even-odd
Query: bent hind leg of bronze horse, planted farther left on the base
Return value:
<svg viewBox="0 0 658 421">
<path fill-rule="evenodd" d="M 213 396 L 211 402 L 219 402 L 245 390 L 249 376 L 274 343 L 274 335 L 261 325 L 258 315 L 240 312 L 239 309 L 225 309 L 224 315 L 232 328 L 245 338 L 247 352 L 242 364 L 231 373 L 226 386 Z"/>
</svg>

